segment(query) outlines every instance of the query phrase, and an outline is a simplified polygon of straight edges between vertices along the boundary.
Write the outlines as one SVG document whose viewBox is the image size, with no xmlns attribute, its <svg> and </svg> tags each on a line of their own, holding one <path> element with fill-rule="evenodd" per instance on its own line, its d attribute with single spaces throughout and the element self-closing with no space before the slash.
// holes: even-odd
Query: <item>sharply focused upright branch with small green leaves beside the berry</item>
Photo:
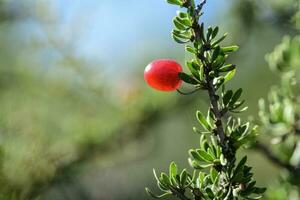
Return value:
<svg viewBox="0 0 300 200">
<path fill-rule="evenodd" d="M 202 130 L 194 127 L 201 135 L 200 145 L 189 151 L 189 163 L 194 172 L 190 174 L 186 169 L 179 172 L 172 162 L 169 175 L 161 173 L 158 176 L 154 171 L 163 194 L 157 196 L 148 188 L 146 190 L 155 198 L 174 195 L 183 200 L 259 199 L 265 188 L 256 186 L 251 167 L 246 165 L 247 157 L 236 159 L 238 149 L 255 141 L 256 126 L 234 116 L 247 109 L 240 100 L 242 89 L 233 91 L 225 87 L 236 72 L 236 66 L 226 61 L 238 47 L 222 46 L 227 34 L 218 36 L 218 27 L 206 29 L 199 23 L 206 1 L 196 4 L 194 0 L 168 0 L 168 3 L 186 9 L 186 12 L 178 11 L 174 18 L 172 37 L 177 43 L 185 44 L 186 51 L 194 57 L 186 63 L 190 73 L 180 73 L 179 77 L 193 85 L 194 91 L 206 91 L 210 107 L 207 114 L 196 113 Z"/>
</svg>

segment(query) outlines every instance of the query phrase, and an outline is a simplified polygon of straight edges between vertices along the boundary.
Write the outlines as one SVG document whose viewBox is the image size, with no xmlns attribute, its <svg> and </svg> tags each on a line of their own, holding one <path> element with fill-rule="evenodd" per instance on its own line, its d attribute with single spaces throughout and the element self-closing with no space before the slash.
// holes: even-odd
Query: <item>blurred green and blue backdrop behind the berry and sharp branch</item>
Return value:
<svg viewBox="0 0 300 200">
<path fill-rule="evenodd" d="M 240 46 L 230 87 L 244 88 L 244 119 L 257 118 L 279 81 L 265 54 L 295 33 L 294 2 L 208 0 L 204 9 L 202 20 Z M 188 168 L 206 95 L 143 81 L 154 59 L 184 64 L 170 37 L 175 13 L 164 0 L 0 0 L 1 199 L 150 199 L 152 168 Z M 259 185 L 272 183 L 276 167 L 247 154 Z"/>
</svg>

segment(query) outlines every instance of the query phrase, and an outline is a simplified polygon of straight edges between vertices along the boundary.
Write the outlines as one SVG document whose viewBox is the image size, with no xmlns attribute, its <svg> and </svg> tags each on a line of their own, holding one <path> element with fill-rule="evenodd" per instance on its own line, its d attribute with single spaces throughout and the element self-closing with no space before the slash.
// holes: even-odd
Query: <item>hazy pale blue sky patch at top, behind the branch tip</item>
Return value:
<svg viewBox="0 0 300 200">
<path fill-rule="evenodd" d="M 208 0 L 203 20 L 218 24 L 222 11 L 228 7 L 225 1 Z M 72 40 L 76 43 L 76 52 L 107 66 L 114 67 L 124 60 L 135 60 L 138 55 L 155 55 L 155 48 L 179 47 L 170 37 L 172 19 L 178 8 L 165 0 L 56 2 L 55 9 L 59 12 L 61 25 L 69 35 L 76 35 Z"/>
</svg>

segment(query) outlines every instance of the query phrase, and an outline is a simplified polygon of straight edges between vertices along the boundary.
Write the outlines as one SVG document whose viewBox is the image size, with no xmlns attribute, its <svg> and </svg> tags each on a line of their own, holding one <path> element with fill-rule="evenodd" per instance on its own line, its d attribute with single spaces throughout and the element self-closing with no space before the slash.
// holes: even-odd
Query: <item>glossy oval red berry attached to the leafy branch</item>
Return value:
<svg viewBox="0 0 300 200">
<path fill-rule="evenodd" d="M 144 78 L 156 90 L 173 91 L 182 84 L 178 76 L 179 72 L 182 72 L 182 67 L 176 61 L 155 60 L 145 68 Z"/>
</svg>

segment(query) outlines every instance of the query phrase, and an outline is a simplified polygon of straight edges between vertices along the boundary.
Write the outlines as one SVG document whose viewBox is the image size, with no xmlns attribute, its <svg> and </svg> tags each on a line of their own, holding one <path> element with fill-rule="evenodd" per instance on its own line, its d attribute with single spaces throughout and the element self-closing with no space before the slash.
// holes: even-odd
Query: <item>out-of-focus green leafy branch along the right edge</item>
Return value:
<svg viewBox="0 0 300 200">
<path fill-rule="evenodd" d="M 271 89 L 268 100 L 259 102 L 262 130 L 271 139 L 272 148 L 263 144 L 257 147 L 282 168 L 278 181 L 267 193 L 268 199 L 300 198 L 299 53 L 300 37 L 285 36 L 266 56 L 270 68 L 281 79 L 281 85 Z"/>
</svg>

